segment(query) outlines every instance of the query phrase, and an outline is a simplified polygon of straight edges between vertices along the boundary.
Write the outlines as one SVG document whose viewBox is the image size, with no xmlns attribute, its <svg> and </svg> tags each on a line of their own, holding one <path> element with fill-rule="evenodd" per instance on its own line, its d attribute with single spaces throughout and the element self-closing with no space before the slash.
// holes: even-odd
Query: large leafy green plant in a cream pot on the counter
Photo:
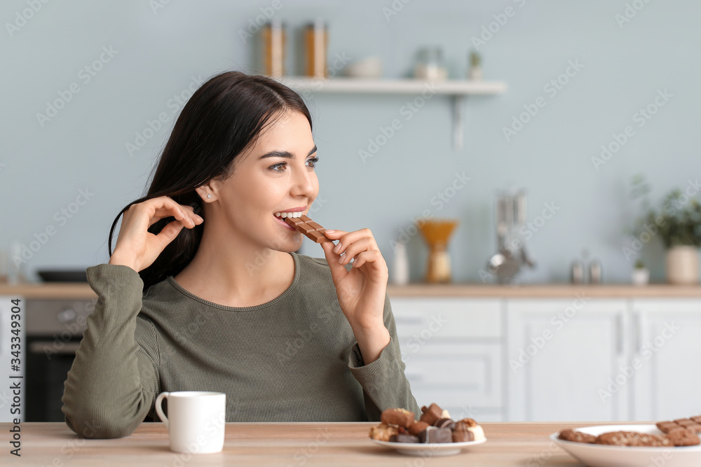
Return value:
<svg viewBox="0 0 701 467">
<path fill-rule="evenodd" d="M 649 236 L 660 237 L 665 244 L 669 284 L 697 284 L 701 246 L 699 200 L 680 189 L 672 190 L 662 200 L 660 209 L 648 210 L 637 230 L 640 237 L 646 231 Z"/>
</svg>

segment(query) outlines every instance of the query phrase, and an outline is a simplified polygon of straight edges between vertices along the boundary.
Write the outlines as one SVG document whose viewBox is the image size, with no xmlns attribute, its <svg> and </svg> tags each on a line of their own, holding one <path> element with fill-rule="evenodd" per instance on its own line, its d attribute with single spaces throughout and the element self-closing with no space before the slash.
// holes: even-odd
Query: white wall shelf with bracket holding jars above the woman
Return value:
<svg viewBox="0 0 701 467">
<path fill-rule="evenodd" d="M 463 148 L 463 109 L 469 95 L 500 95 L 506 89 L 503 81 L 437 80 L 421 79 L 375 79 L 375 78 L 306 78 L 284 76 L 279 78 L 290 88 L 298 91 L 324 93 L 359 94 L 409 94 L 449 95 L 453 104 L 453 148 Z"/>
</svg>

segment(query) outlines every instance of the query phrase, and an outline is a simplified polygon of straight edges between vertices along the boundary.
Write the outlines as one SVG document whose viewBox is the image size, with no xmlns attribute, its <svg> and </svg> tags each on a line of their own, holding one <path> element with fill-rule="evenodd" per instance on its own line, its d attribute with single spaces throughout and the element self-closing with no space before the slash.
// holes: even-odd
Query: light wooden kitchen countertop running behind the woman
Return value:
<svg viewBox="0 0 701 467">
<path fill-rule="evenodd" d="M 503 286 L 494 284 L 388 284 L 391 297 L 474 297 L 474 298 L 569 298 L 584 294 L 592 298 L 701 298 L 701 284 L 695 286 L 671 286 L 651 284 L 632 286 L 611 284 L 597 286 L 573 286 L 569 284 L 536 284 Z M 86 283 L 53 282 L 49 284 L 0 284 L 0 295 L 24 298 L 95 298 L 95 292 Z"/>
</svg>

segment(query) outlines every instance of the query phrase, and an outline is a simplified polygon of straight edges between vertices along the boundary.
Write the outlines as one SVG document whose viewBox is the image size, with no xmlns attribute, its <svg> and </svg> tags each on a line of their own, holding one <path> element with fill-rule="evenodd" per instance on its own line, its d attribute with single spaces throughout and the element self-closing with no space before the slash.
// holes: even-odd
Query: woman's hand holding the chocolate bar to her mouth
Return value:
<svg viewBox="0 0 701 467">
<path fill-rule="evenodd" d="M 333 230 L 327 231 L 326 236 L 339 240 L 336 246 L 333 242 L 322 242 L 321 246 L 348 323 L 353 330 L 383 328 L 388 271 L 372 232 L 367 228 L 354 232 Z M 345 265 L 351 258 L 353 268 L 347 271 Z"/>
</svg>

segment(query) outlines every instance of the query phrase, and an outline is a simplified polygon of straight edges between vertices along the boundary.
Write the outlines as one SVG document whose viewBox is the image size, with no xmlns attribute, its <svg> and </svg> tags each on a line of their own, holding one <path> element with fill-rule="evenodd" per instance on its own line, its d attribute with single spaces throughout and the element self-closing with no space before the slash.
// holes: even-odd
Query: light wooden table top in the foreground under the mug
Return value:
<svg viewBox="0 0 701 467">
<path fill-rule="evenodd" d="M 142 423 L 125 438 L 80 438 L 61 422 L 20 425 L 21 458 L 10 454 L 0 424 L 0 465 L 22 466 L 582 466 L 549 439 L 563 428 L 620 424 L 616 421 L 495 422 L 481 424 L 487 442 L 453 456 L 398 454 L 368 438 L 376 422 L 227 423 L 224 449 L 216 454 L 179 454 L 168 448 L 162 423 Z M 649 423 L 649 422 L 625 422 Z"/>
</svg>

